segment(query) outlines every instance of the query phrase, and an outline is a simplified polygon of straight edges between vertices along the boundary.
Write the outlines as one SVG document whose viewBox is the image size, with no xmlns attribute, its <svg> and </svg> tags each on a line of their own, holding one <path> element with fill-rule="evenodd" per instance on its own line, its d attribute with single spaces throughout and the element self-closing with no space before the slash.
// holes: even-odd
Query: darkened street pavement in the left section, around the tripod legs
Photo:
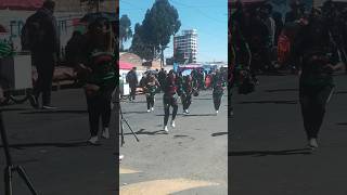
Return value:
<svg viewBox="0 0 347 195">
<path fill-rule="evenodd" d="M 112 139 L 87 145 L 89 139 L 86 98 L 81 89 L 53 92 L 57 110 L 36 110 L 28 103 L 2 107 L 15 165 L 26 170 L 40 195 L 115 195 L 118 156 L 115 119 Z M 5 166 L 0 148 L 0 170 Z M 14 172 L 14 194 L 30 194 Z M 0 179 L 0 194 L 3 192 Z"/>
</svg>

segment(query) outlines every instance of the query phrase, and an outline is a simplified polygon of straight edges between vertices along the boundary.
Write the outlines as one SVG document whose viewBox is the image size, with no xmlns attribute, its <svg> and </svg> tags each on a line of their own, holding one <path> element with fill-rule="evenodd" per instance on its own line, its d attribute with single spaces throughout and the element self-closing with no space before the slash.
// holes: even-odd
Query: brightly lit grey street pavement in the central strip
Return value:
<svg viewBox="0 0 347 195">
<path fill-rule="evenodd" d="M 140 139 L 125 129 L 120 147 L 121 195 L 226 195 L 228 194 L 227 96 L 215 115 L 211 91 L 193 98 L 189 116 L 179 115 L 169 134 L 163 131 L 163 93 L 156 95 L 155 110 L 146 113 L 144 95 L 123 103 L 125 118 Z"/>
</svg>

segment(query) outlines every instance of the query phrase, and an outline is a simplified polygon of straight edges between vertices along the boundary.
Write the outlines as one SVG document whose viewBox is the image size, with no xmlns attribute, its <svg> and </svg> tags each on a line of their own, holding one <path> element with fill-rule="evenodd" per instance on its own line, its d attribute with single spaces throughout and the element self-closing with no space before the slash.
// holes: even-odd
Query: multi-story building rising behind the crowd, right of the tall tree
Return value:
<svg viewBox="0 0 347 195">
<path fill-rule="evenodd" d="M 196 63 L 197 55 L 197 32 L 196 29 L 183 30 L 174 37 L 174 56 L 176 52 L 181 52 L 185 60 Z"/>
</svg>

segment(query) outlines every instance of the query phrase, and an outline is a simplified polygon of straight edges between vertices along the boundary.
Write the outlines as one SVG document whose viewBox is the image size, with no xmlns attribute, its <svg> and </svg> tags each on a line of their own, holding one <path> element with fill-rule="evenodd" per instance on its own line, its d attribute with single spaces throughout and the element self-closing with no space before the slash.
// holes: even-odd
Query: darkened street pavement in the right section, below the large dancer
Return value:
<svg viewBox="0 0 347 195">
<path fill-rule="evenodd" d="M 313 153 L 305 150 L 297 76 L 261 76 L 256 92 L 234 93 L 229 127 L 231 195 L 347 194 L 347 78 L 334 79 L 335 93 Z"/>
</svg>

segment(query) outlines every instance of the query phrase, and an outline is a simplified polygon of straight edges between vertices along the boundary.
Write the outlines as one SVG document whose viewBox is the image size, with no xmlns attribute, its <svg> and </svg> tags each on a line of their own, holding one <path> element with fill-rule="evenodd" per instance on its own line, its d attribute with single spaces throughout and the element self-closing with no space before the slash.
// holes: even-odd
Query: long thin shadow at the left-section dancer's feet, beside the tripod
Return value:
<svg viewBox="0 0 347 195">
<path fill-rule="evenodd" d="M 53 147 L 80 147 L 80 146 L 88 146 L 86 141 L 79 141 L 79 142 L 61 142 L 61 143 L 23 143 L 23 144 L 10 144 L 10 147 L 16 148 L 16 150 L 23 150 L 24 147 L 43 147 L 43 146 L 53 146 Z M 101 144 L 95 144 L 101 145 Z M 0 145 L 0 147 L 3 147 L 3 145 Z"/>
</svg>

